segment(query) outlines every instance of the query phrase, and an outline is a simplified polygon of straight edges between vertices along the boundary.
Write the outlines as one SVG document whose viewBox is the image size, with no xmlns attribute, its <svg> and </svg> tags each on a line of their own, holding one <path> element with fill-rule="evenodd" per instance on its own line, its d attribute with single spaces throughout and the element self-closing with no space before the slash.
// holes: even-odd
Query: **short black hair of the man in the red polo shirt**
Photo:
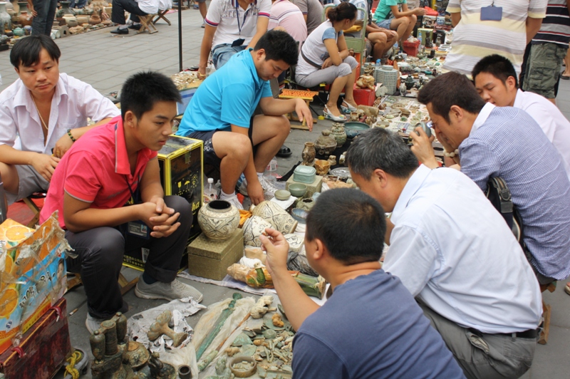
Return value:
<svg viewBox="0 0 570 379">
<path fill-rule="evenodd" d="M 137 118 L 148 112 L 159 101 L 180 103 L 180 91 L 172 79 L 155 71 L 135 73 L 130 76 L 120 91 L 120 113 L 125 118 L 128 110 Z"/>
</svg>

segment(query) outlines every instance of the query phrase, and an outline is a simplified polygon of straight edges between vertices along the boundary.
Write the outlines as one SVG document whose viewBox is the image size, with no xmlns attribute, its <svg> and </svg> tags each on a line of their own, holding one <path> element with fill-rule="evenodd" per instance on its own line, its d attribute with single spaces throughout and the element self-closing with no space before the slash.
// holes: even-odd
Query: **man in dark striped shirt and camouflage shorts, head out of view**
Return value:
<svg viewBox="0 0 570 379">
<path fill-rule="evenodd" d="M 562 60 L 570 42 L 570 3 L 566 0 L 549 0 L 546 18 L 534 38 L 523 89 L 538 93 L 556 104 L 554 88 L 559 81 Z"/>
</svg>

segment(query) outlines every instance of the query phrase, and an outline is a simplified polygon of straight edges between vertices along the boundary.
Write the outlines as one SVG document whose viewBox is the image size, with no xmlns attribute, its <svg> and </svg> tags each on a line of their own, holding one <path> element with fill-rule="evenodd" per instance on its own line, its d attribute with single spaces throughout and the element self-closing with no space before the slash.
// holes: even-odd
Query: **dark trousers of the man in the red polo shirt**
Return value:
<svg viewBox="0 0 570 379">
<path fill-rule="evenodd" d="M 123 226 L 66 232 L 66 239 L 77 254 L 76 258 L 67 259 L 67 269 L 81 274 L 91 316 L 108 318 L 116 312 L 128 311 L 118 283 L 125 251 L 149 249 L 145 273 L 164 283 L 176 278 L 192 227 L 192 205 L 179 196 L 167 196 L 165 203 L 180 212 L 180 227 L 169 237 L 134 237 L 121 232 Z"/>
</svg>

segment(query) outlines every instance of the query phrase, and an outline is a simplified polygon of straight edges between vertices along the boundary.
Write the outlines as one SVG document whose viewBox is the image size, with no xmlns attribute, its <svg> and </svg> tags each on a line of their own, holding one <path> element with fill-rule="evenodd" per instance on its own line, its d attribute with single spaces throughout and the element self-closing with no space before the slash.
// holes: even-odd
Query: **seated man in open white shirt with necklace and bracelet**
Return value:
<svg viewBox="0 0 570 379">
<path fill-rule="evenodd" d="M 20 78 L 0 93 L 0 175 L 9 204 L 48 190 L 53 170 L 73 142 L 120 115 L 95 88 L 60 74 L 60 56 L 56 43 L 43 34 L 22 38 L 10 52 Z M 95 125 L 86 126 L 87 118 Z"/>
</svg>

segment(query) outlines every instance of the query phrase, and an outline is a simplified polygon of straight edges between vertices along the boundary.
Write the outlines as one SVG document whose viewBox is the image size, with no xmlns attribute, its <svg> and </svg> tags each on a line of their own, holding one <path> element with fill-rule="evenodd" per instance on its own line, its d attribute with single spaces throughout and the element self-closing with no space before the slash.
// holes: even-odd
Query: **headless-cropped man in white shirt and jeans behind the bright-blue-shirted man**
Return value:
<svg viewBox="0 0 570 379">
<path fill-rule="evenodd" d="M 235 53 L 254 48 L 267 31 L 270 13 L 271 0 L 212 0 L 204 20 L 198 76 L 206 75 L 210 53 L 219 69 Z"/>
</svg>

